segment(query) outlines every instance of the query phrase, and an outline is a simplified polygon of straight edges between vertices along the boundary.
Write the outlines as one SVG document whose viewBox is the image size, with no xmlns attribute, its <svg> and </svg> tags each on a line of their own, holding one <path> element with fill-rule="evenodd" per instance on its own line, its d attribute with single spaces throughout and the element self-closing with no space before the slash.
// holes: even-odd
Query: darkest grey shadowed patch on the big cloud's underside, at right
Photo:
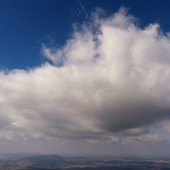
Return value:
<svg viewBox="0 0 170 170">
<path fill-rule="evenodd" d="M 169 119 L 169 112 L 169 108 L 162 108 L 153 103 L 147 103 L 147 101 L 135 106 L 122 105 L 121 108 L 106 108 L 100 113 L 99 124 L 106 131 L 119 132 Z"/>
</svg>

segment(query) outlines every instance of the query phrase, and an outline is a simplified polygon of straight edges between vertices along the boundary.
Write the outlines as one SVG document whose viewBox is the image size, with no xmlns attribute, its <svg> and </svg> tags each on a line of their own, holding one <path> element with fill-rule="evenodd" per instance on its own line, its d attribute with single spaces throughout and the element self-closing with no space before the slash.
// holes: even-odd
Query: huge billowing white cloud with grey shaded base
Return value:
<svg viewBox="0 0 170 170">
<path fill-rule="evenodd" d="M 149 127 L 170 118 L 170 38 L 135 20 L 95 13 L 63 47 L 43 45 L 52 64 L 2 70 L 0 137 L 158 141 Z"/>
</svg>

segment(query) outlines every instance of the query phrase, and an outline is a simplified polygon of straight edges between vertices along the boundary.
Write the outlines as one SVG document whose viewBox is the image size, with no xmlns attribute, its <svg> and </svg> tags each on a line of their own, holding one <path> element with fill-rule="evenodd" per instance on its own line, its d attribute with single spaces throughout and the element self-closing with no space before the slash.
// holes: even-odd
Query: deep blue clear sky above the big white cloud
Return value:
<svg viewBox="0 0 170 170">
<path fill-rule="evenodd" d="M 41 45 L 61 46 L 72 32 L 74 23 L 82 23 L 97 7 L 108 14 L 121 6 L 139 18 L 141 26 L 158 22 L 169 31 L 168 0 L 1 0 L 0 1 L 0 66 L 30 68 L 41 65 Z M 88 17 L 87 17 L 88 14 Z"/>
</svg>

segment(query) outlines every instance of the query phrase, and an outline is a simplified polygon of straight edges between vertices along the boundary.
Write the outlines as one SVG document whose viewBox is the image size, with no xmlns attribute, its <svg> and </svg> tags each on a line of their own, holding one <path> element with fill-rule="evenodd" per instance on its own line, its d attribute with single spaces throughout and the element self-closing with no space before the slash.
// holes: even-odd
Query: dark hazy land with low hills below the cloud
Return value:
<svg viewBox="0 0 170 170">
<path fill-rule="evenodd" d="M 1 170 L 170 170 L 170 159 L 2 154 Z"/>
</svg>

